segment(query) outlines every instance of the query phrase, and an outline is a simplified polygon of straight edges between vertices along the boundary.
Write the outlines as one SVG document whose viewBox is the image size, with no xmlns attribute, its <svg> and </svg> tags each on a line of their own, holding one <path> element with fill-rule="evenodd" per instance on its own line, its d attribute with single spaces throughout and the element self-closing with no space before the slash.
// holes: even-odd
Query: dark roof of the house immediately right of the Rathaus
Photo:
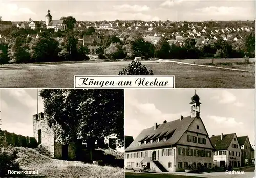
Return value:
<svg viewBox="0 0 256 178">
<path fill-rule="evenodd" d="M 210 141 L 212 145 L 214 145 L 216 150 L 227 150 L 231 144 L 236 133 L 225 134 L 223 135 L 223 139 L 221 140 L 221 135 L 212 136 Z"/>
</svg>

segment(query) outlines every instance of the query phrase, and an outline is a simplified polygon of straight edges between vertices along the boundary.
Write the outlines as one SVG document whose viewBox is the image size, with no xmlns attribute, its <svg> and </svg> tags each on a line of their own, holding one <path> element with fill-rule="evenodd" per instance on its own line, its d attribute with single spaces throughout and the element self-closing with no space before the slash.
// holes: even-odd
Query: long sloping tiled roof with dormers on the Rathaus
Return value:
<svg viewBox="0 0 256 178">
<path fill-rule="evenodd" d="M 178 119 L 171 122 L 163 123 L 158 125 L 156 130 L 154 130 L 154 126 L 152 126 L 151 128 L 144 129 L 133 141 L 133 143 L 127 149 L 125 149 L 125 151 L 129 152 L 129 151 L 135 151 L 135 150 L 152 149 L 157 147 L 175 145 L 179 141 L 179 139 L 182 137 L 184 132 L 189 128 L 189 125 L 193 122 L 195 118 L 196 117 L 191 118 L 190 116 L 188 116 L 188 117 L 184 117 L 182 120 Z M 153 143 L 139 145 L 139 142 L 141 140 L 145 140 L 146 138 L 148 138 L 148 136 L 155 135 L 155 134 L 160 134 L 164 136 L 168 132 L 172 133 L 172 131 L 174 131 L 174 133 L 166 141 L 160 140 L 159 142 L 154 141 Z M 151 136 L 151 137 L 154 137 L 154 136 Z"/>
</svg>

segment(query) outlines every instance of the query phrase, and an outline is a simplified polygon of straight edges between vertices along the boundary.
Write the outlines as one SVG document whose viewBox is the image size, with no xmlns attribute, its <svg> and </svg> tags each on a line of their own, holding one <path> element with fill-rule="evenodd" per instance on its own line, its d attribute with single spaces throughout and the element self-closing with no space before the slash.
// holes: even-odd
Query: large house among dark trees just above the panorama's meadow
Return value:
<svg viewBox="0 0 256 178">
<path fill-rule="evenodd" d="M 90 54 L 98 54 L 102 49 L 103 41 L 98 35 L 84 35 L 83 46 L 87 46 Z"/>
</svg>

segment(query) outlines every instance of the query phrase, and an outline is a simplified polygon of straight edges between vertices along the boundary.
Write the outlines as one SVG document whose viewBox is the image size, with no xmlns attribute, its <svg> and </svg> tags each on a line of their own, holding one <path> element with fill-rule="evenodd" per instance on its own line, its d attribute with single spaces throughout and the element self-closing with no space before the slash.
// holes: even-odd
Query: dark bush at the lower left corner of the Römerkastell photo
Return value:
<svg viewBox="0 0 256 178">
<path fill-rule="evenodd" d="M 16 162 L 17 151 L 12 146 L 0 148 L 0 177 L 8 175 L 8 170 L 20 170 Z"/>
</svg>

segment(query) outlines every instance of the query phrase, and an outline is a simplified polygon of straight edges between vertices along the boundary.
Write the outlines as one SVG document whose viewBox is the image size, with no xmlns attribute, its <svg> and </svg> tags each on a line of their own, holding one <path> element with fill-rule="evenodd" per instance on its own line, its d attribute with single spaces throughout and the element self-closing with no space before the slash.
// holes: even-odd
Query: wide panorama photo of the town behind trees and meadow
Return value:
<svg viewBox="0 0 256 178">
<path fill-rule="evenodd" d="M 176 88 L 254 88 L 254 1 L 6 0 L 0 16 L 1 88 L 138 74 L 174 75 Z"/>
</svg>

